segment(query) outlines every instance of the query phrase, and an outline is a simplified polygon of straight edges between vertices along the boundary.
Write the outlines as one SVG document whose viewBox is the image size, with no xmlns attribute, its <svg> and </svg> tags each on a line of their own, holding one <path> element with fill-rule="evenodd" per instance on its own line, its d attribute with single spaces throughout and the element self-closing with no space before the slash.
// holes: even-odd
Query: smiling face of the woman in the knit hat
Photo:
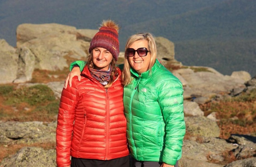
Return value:
<svg viewBox="0 0 256 167">
<path fill-rule="evenodd" d="M 105 48 L 98 47 L 93 49 L 92 59 L 94 63 L 94 69 L 108 71 L 113 56 Z"/>
</svg>

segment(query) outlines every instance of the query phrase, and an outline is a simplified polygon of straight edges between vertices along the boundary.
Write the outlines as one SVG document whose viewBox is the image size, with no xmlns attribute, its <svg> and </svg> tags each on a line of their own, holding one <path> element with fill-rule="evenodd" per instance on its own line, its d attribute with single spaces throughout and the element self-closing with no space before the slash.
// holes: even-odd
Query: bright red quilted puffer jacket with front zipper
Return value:
<svg viewBox="0 0 256 167">
<path fill-rule="evenodd" d="M 121 70 L 105 89 L 91 77 L 88 67 L 82 79 L 63 89 L 56 129 L 57 165 L 70 165 L 76 158 L 111 160 L 129 155 L 123 104 Z"/>
</svg>

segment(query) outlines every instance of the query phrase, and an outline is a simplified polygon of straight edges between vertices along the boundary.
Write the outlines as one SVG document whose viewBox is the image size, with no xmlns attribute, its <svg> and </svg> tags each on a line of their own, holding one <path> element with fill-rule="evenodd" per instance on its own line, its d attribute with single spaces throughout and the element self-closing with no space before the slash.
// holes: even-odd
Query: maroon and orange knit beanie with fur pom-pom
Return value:
<svg viewBox="0 0 256 167">
<path fill-rule="evenodd" d="M 119 56 L 118 25 L 112 20 L 103 20 L 99 32 L 91 40 L 89 53 L 96 48 L 105 48 L 114 57 L 115 61 Z"/>
</svg>

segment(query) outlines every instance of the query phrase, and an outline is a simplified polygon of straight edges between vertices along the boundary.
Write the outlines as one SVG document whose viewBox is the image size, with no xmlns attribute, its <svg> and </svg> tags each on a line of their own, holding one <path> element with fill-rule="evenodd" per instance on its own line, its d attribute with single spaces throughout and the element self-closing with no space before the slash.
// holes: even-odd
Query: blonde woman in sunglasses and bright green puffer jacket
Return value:
<svg viewBox="0 0 256 167">
<path fill-rule="evenodd" d="M 176 167 L 182 155 L 182 83 L 156 55 L 151 33 L 134 34 L 127 40 L 122 80 L 127 139 L 134 167 Z M 75 64 L 83 66 L 81 62 Z M 77 74 L 69 77 L 74 75 Z"/>
</svg>

